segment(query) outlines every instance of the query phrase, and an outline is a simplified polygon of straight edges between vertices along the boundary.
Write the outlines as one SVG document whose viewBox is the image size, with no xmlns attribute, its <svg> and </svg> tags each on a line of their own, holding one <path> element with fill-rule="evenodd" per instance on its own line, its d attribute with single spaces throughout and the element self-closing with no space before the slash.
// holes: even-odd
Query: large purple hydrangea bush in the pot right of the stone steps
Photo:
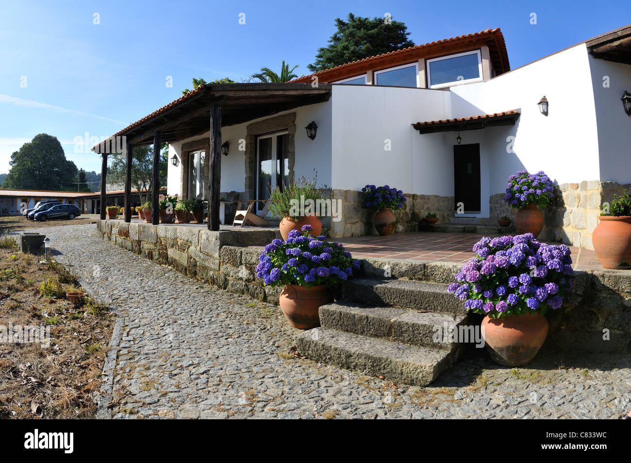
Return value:
<svg viewBox="0 0 631 463">
<path fill-rule="evenodd" d="M 482 238 L 449 292 L 467 310 L 493 318 L 557 310 L 572 289 L 572 257 L 565 244 L 540 243 L 533 234 Z"/>
</svg>

